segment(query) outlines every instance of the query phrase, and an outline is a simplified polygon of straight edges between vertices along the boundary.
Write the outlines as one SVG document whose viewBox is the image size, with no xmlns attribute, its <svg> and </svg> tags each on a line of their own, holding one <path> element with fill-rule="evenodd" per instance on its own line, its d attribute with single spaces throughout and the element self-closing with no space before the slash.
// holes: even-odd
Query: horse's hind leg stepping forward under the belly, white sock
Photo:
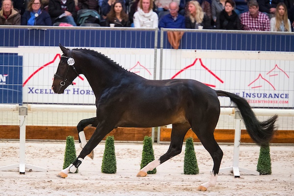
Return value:
<svg viewBox="0 0 294 196">
<path fill-rule="evenodd" d="M 182 151 L 184 137 L 187 131 L 191 128 L 189 123 L 184 124 L 172 124 L 172 136 L 171 136 L 171 144 L 168 151 L 162 155 L 159 159 L 151 161 L 144 168 L 138 172 L 137 177 L 144 177 L 147 175 L 148 171 L 152 171 L 154 168 L 159 166 L 160 164 L 166 162 L 170 158 L 178 155 Z"/>
</svg>

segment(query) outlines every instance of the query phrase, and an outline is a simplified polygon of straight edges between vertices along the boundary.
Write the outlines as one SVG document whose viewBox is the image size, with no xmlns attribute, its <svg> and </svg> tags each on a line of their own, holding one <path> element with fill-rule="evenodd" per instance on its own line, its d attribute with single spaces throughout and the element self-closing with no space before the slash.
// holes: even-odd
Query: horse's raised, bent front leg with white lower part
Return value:
<svg viewBox="0 0 294 196">
<path fill-rule="evenodd" d="M 81 120 L 77 126 L 77 133 L 78 133 L 78 142 L 79 142 L 79 147 L 80 148 L 84 148 L 87 144 L 87 140 L 86 140 L 86 136 L 85 136 L 85 132 L 84 132 L 84 128 L 86 126 L 93 126 L 93 127 L 97 127 L 98 125 L 98 119 L 97 117 L 91 118 L 91 119 L 84 119 Z M 94 158 L 94 151 L 90 152 L 90 154 L 88 154 L 88 156 L 93 159 Z"/>
</svg>

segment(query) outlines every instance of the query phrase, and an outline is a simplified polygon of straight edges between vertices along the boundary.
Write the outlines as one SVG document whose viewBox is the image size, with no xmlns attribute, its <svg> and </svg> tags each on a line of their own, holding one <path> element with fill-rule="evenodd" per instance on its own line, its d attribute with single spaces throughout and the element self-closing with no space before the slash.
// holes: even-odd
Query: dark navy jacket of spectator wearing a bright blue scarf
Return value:
<svg viewBox="0 0 294 196">
<path fill-rule="evenodd" d="M 21 25 L 27 25 L 27 21 L 30 19 L 30 11 L 25 11 L 22 16 Z M 35 25 L 50 26 L 52 25 L 50 15 L 46 10 L 42 10 L 41 14 L 35 19 Z"/>
</svg>

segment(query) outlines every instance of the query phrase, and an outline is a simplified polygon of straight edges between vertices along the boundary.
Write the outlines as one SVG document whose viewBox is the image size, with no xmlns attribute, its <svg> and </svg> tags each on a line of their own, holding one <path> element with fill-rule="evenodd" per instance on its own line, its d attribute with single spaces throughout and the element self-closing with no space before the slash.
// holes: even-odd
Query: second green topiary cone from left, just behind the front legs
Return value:
<svg viewBox="0 0 294 196">
<path fill-rule="evenodd" d="M 114 136 L 108 136 L 105 140 L 105 149 L 102 159 L 102 173 L 116 173 L 116 157 L 114 148 Z"/>
</svg>

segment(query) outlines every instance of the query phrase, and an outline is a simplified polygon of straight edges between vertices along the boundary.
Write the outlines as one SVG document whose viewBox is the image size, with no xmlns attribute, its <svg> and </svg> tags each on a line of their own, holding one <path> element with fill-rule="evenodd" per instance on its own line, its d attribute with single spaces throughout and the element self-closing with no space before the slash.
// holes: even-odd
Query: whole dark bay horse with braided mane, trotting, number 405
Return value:
<svg viewBox="0 0 294 196">
<path fill-rule="evenodd" d="M 222 150 L 215 141 L 214 130 L 220 116 L 218 96 L 229 97 L 242 114 L 247 132 L 258 145 L 267 145 L 275 131 L 277 116 L 259 122 L 244 98 L 216 91 L 192 79 L 148 80 L 130 73 L 101 53 L 88 49 L 66 49 L 54 74 L 52 90 L 62 94 L 74 78 L 84 74 L 96 96 L 97 117 L 82 120 L 78 125 L 80 146 L 76 160 L 57 176 L 65 178 L 75 172 L 85 156 L 114 128 L 156 127 L 172 124 L 171 144 L 159 159 L 140 170 L 146 176 L 160 164 L 179 154 L 184 136 L 192 128 L 202 145 L 210 153 L 214 166 L 211 178 L 197 189 L 206 191 L 216 185 Z M 88 143 L 83 128 L 95 126 Z"/>
</svg>

